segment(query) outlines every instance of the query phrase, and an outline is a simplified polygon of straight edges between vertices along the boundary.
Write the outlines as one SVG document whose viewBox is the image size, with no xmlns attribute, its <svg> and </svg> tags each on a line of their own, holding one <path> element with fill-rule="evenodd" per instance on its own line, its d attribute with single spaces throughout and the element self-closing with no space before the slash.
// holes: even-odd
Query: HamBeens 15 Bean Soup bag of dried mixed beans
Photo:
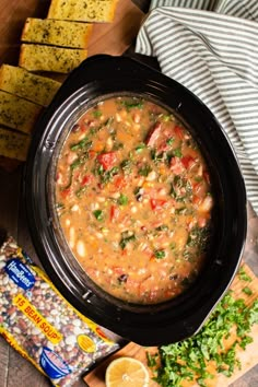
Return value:
<svg viewBox="0 0 258 387">
<path fill-rule="evenodd" d="M 55 386 L 72 386 L 118 348 L 60 295 L 12 237 L 0 248 L 0 333 Z"/>
</svg>

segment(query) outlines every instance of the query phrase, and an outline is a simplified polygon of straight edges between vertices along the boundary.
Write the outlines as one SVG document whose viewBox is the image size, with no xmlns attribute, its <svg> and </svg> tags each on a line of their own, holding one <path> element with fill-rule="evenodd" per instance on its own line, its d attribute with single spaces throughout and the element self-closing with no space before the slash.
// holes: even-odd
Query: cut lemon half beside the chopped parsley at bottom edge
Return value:
<svg viewBox="0 0 258 387">
<path fill-rule="evenodd" d="M 118 357 L 106 370 L 106 387 L 148 387 L 149 373 L 137 359 Z"/>
</svg>

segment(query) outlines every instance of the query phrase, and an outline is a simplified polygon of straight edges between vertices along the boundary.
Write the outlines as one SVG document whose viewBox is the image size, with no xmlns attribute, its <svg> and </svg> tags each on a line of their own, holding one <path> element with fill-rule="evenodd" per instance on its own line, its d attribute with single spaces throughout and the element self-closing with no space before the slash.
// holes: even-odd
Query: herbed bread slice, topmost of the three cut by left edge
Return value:
<svg viewBox="0 0 258 387">
<path fill-rule="evenodd" d="M 0 90 L 42 106 L 49 105 L 60 85 L 60 82 L 32 74 L 20 67 L 2 64 L 0 68 Z"/>
</svg>

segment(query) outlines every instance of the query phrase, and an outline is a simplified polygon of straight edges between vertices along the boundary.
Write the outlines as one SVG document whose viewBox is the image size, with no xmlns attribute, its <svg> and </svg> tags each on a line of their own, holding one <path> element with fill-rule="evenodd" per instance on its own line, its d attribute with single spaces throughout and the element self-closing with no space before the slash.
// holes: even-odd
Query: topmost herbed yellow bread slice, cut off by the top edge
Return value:
<svg viewBox="0 0 258 387">
<path fill-rule="evenodd" d="M 118 0 L 52 0 L 48 19 L 113 22 Z"/>
</svg>

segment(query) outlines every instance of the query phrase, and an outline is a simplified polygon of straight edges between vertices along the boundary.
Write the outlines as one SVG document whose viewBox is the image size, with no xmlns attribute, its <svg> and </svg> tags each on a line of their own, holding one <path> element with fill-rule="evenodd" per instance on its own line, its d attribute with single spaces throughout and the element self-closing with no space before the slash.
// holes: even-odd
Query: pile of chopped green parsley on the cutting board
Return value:
<svg viewBox="0 0 258 387">
<path fill-rule="evenodd" d="M 214 377 L 207 371 L 207 363 L 210 361 L 214 363 L 216 372 L 231 376 L 241 366 L 236 359 L 236 345 L 238 343 L 245 349 L 253 341 L 248 332 L 257 322 L 258 301 L 246 306 L 243 300 L 234 300 L 228 292 L 199 333 L 184 341 L 160 347 L 159 354 L 148 353 L 148 365 L 153 367 L 153 379 L 163 387 L 179 387 L 184 380 L 195 379 L 199 386 L 206 387 L 206 380 Z M 228 338 L 234 326 L 237 327 L 237 338 L 226 350 L 223 340 Z"/>
</svg>

